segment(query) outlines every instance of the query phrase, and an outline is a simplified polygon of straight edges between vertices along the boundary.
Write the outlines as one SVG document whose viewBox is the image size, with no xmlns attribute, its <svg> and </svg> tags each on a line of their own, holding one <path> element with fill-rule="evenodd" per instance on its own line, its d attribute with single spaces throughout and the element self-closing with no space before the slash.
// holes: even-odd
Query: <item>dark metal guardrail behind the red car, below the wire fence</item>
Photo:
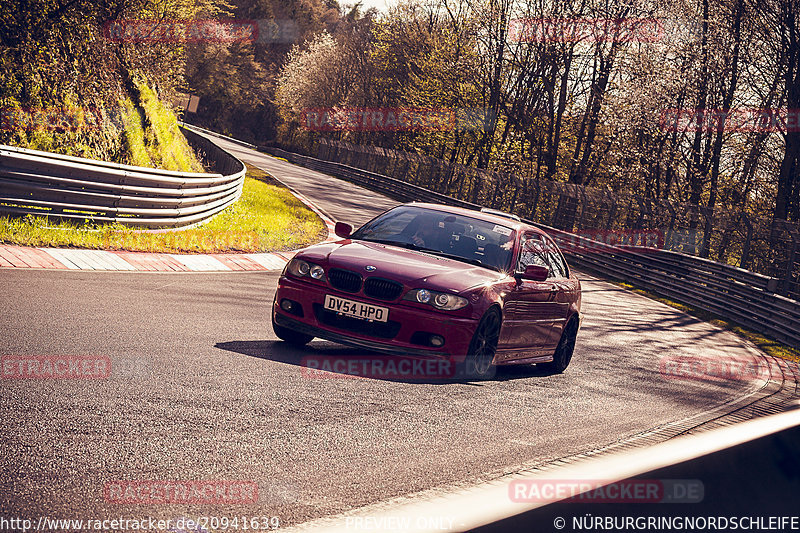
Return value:
<svg viewBox="0 0 800 533">
<path fill-rule="evenodd" d="M 268 148 L 268 152 L 373 189 L 401 201 L 425 201 L 470 209 L 472 204 L 395 178 L 341 163 Z M 570 262 L 714 313 L 742 326 L 800 347 L 800 302 L 775 294 L 779 280 L 748 270 L 668 250 L 613 246 L 526 221 L 552 235 Z"/>
</svg>

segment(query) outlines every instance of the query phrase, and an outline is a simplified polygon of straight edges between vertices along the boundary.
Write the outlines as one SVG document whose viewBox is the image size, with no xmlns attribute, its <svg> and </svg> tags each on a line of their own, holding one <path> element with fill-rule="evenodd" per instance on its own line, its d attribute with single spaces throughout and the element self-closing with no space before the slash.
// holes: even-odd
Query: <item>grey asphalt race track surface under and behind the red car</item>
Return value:
<svg viewBox="0 0 800 533">
<path fill-rule="evenodd" d="M 396 202 L 221 143 L 336 220 Z M 0 381 L 0 514 L 33 518 L 277 516 L 298 524 L 612 444 L 753 393 L 754 381 L 668 379 L 664 358 L 758 359 L 739 337 L 584 279 L 586 319 L 563 375 L 486 382 L 309 375 L 269 325 L 277 272 L 0 270 L 9 356 L 108 357 L 107 379 Z M 120 504 L 118 480 L 246 480 L 258 502 Z"/>
</svg>

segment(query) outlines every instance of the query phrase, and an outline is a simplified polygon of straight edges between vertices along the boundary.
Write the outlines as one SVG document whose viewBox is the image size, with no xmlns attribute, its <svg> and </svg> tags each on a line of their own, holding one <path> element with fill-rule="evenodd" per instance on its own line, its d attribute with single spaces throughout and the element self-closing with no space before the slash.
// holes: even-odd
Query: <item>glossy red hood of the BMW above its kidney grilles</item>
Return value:
<svg viewBox="0 0 800 533">
<path fill-rule="evenodd" d="M 399 281 L 410 288 L 426 287 L 447 292 L 462 292 L 491 283 L 506 274 L 470 265 L 455 259 L 408 250 L 374 242 L 345 240 L 307 248 L 297 257 L 344 268 L 362 276 L 376 276 Z M 373 266 L 368 272 L 364 267 Z"/>
</svg>

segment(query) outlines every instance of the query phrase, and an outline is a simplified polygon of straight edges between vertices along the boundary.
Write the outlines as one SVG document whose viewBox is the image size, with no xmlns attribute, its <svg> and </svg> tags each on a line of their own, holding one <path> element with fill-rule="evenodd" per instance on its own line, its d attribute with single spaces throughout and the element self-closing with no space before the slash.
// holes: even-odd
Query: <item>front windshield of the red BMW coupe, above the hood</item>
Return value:
<svg viewBox="0 0 800 533">
<path fill-rule="evenodd" d="M 352 238 L 423 250 L 505 271 L 511 262 L 514 230 L 468 216 L 401 206 L 368 222 Z"/>
</svg>

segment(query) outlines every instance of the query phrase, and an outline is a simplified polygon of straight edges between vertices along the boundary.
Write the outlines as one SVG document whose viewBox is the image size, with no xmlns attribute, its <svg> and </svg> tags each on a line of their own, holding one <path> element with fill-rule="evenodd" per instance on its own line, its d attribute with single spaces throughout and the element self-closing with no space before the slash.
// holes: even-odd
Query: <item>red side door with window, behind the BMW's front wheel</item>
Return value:
<svg viewBox="0 0 800 533">
<path fill-rule="evenodd" d="M 528 265 L 551 269 L 547 243 L 538 233 L 521 236 L 515 272 L 524 272 Z M 553 274 L 560 273 L 551 271 L 551 276 Z M 553 328 L 561 312 L 561 304 L 557 301 L 561 289 L 558 278 L 545 281 L 517 279 L 516 285 L 506 296 L 504 306 L 504 321 L 509 326 L 505 347 L 510 350 L 504 359 L 530 357 L 554 349 L 556 341 L 552 339 Z"/>
</svg>

